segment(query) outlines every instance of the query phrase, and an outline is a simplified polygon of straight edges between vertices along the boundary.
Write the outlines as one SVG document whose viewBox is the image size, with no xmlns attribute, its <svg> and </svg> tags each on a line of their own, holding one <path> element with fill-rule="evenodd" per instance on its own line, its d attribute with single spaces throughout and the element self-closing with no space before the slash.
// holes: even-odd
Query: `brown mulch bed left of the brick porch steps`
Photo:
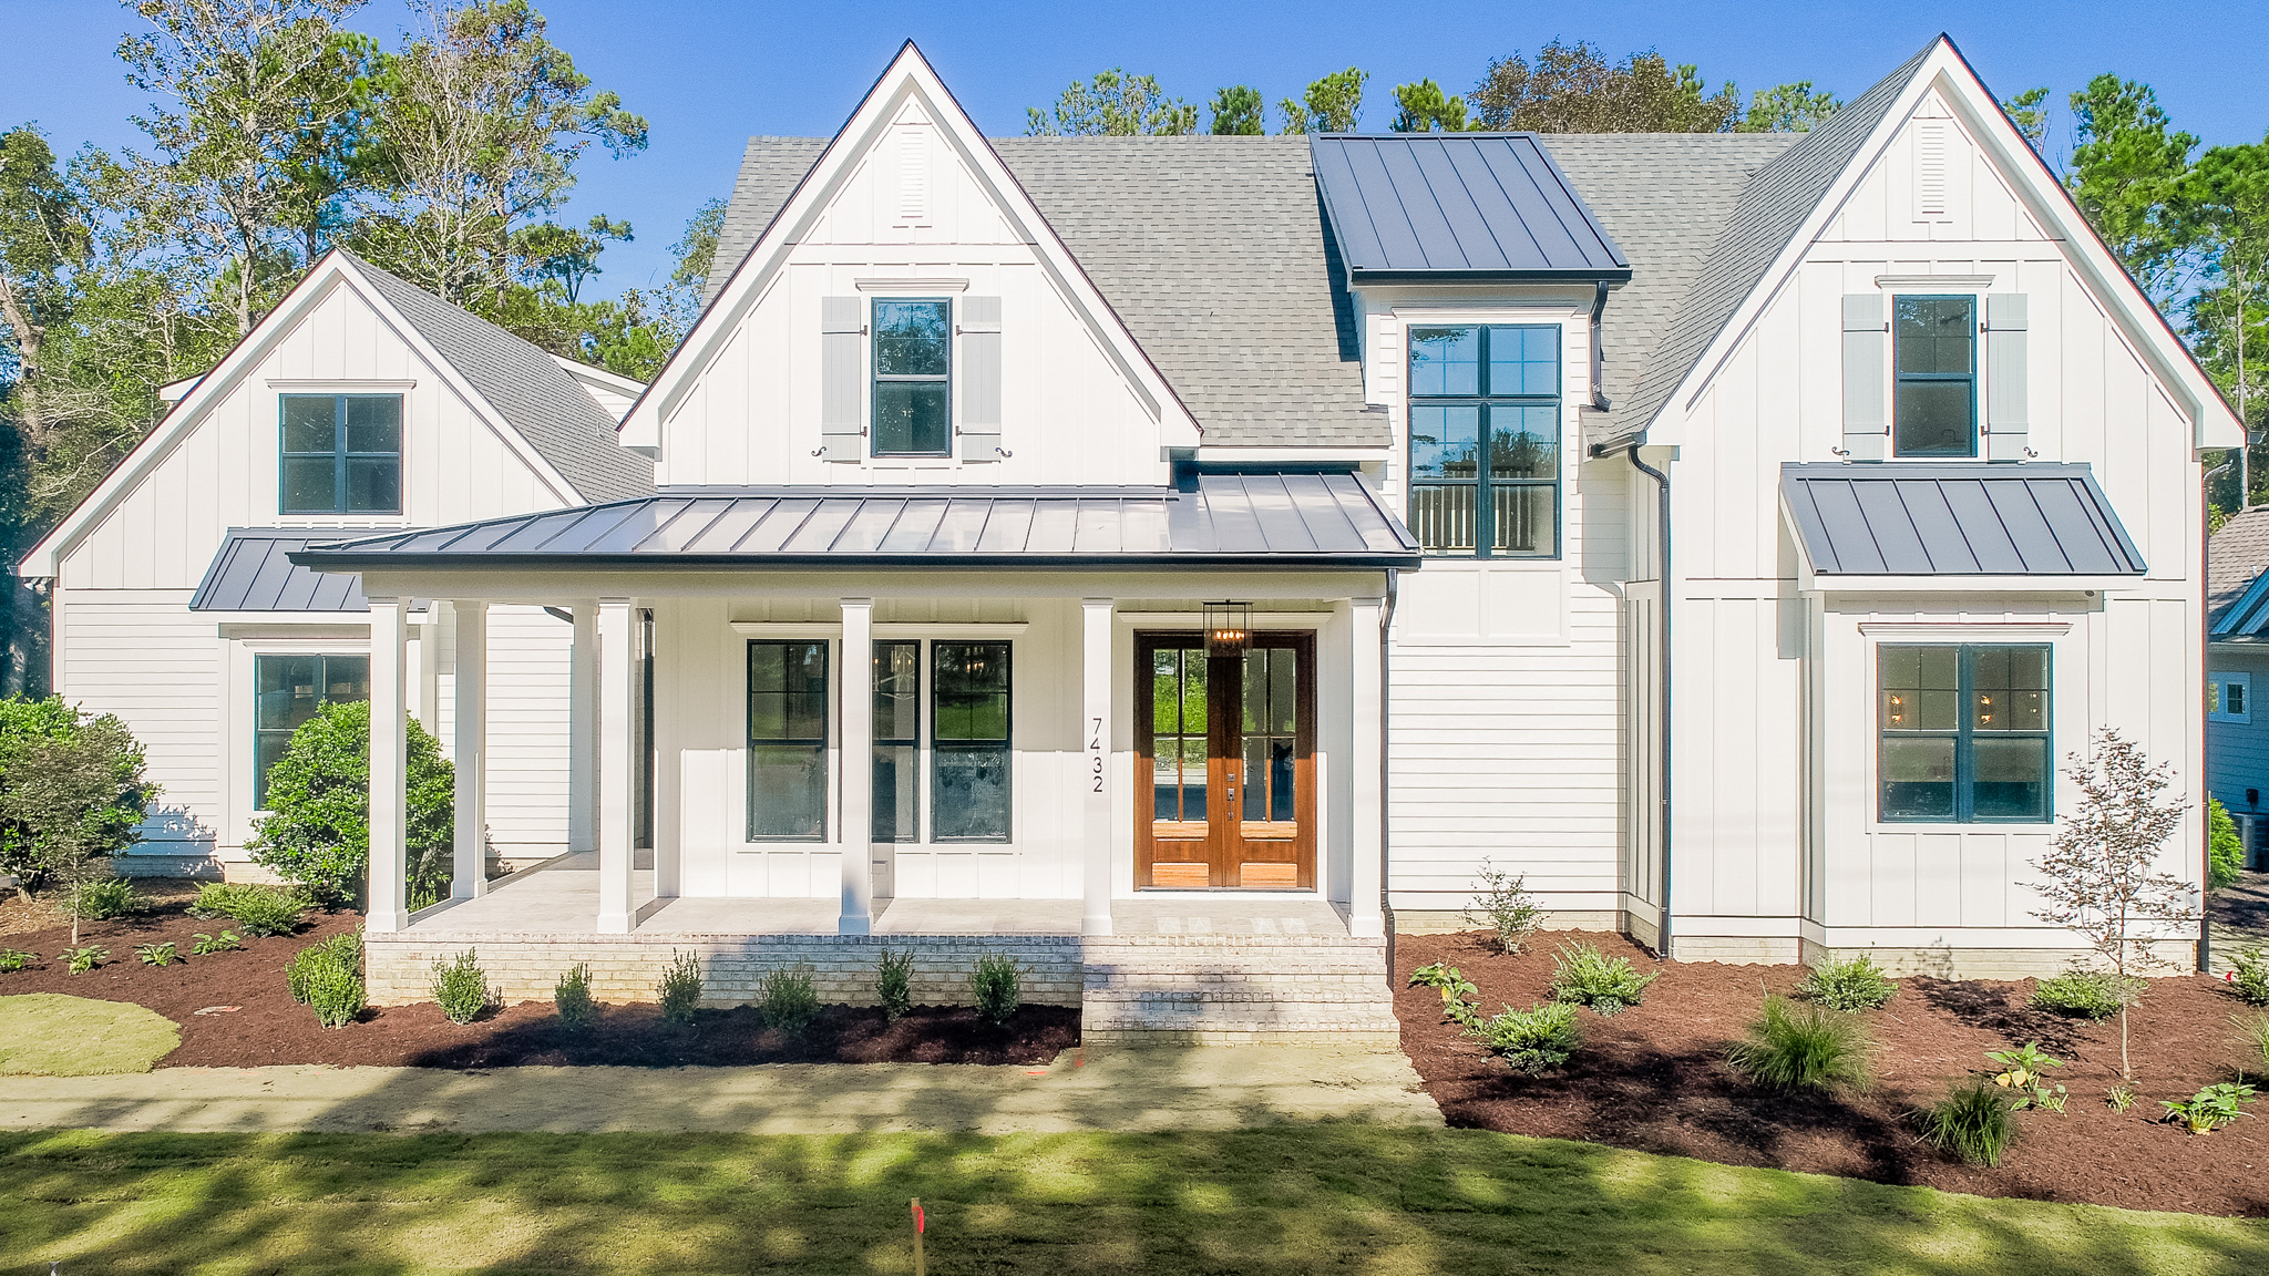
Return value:
<svg viewBox="0 0 2269 1276">
<path fill-rule="evenodd" d="M 70 945 L 70 926 L 0 935 L 0 947 L 48 960 L 0 974 L 0 997 L 64 992 L 102 1001 L 134 1001 L 182 1024 L 182 1049 L 159 1067 L 261 1067 L 277 1063 L 383 1067 L 513 1067 L 513 1065 L 749 1065 L 749 1063 L 1048 1063 L 1080 1044 L 1080 1013 L 1064 1006 L 1026 1006 L 1005 1026 L 982 1024 L 967 1006 L 917 1006 L 896 1024 L 880 1010 L 826 1006 L 801 1040 L 769 1031 L 749 1006 L 699 1010 L 690 1026 L 663 1024 L 653 1006 L 608 1006 L 583 1035 L 565 1033 L 549 1001 L 492 1008 L 472 1024 L 452 1024 L 440 1006 L 363 1010 L 345 1029 L 327 1031 L 313 1010 L 290 999 L 284 967 L 306 945 L 354 931 L 354 913 L 311 913 L 297 935 L 245 940 L 243 951 L 188 956 L 191 935 L 218 933 L 229 922 L 186 915 L 186 899 L 170 899 L 138 917 L 86 922 L 82 945 L 102 945 L 111 960 L 70 974 L 54 960 Z M 134 945 L 179 945 L 186 965 L 150 967 Z M 197 1015 L 211 1006 L 236 1006 Z"/>
</svg>

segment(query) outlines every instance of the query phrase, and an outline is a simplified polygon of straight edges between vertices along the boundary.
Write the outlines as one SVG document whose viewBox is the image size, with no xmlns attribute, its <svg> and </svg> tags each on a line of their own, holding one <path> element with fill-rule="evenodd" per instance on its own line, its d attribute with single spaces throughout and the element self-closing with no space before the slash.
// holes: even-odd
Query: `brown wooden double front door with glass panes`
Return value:
<svg viewBox="0 0 2269 1276">
<path fill-rule="evenodd" d="M 1134 885 L 1316 890 L 1316 636 L 1134 640 Z"/>
</svg>

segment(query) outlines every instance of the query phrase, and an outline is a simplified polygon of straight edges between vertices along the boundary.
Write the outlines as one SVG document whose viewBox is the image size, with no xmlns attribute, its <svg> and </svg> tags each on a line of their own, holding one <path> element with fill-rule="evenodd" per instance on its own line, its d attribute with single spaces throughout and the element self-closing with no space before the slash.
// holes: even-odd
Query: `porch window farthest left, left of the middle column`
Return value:
<svg viewBox="0 0 2269 1276">
<path fill-rule="evenodd" d="M 749 643 L 749 840 L 828 838 L 828 645 Z"/>
</svg>

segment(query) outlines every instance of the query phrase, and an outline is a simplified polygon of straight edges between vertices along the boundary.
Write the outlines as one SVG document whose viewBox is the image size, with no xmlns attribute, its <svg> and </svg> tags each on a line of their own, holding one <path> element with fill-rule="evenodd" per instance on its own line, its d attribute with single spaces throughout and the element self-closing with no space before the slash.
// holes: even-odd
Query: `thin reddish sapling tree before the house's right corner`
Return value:
<svg viewBox="0 0 2269 1276">
<path fill-rule="evenodd" d="M 2128 1006 L 2135 1001 L 2133 972 L 2153 958 L 2153 931 L 2196 922 L 2192 885 L 2158 872 L 2158 851 L 2183 826 L 2190 804 L 2160 792 L 2174 783 L 2165 763 L 2112 729 L 2097 731 L 2090 756 L 2072 756 L 2065 767 L 2081 792 L 2078 806 L 2049 849 L 2033 861 L 2042 881 L 2033 890 L 2042 908 L 2033 917 L 2069 926 L 2110 967 L 2119 997 L 2119 1076 L 2128 1065 Z"/>
</svg>

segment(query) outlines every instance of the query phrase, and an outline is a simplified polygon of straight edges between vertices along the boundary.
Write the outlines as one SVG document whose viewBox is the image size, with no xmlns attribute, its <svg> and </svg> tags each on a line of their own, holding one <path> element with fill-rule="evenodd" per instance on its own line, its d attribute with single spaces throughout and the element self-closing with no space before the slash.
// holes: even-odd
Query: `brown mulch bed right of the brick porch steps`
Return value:
<svg viewBox="0 0 2269 1276">
<path fill-rule="evenodd" d="M 1436 990 L 1405 988 L 1411 969 L 1448 960 L 1479 985 L 1486 1013 L 1527 1008 L 1547 997 L 1554 949 L 1568 940 L 1597 942 L 1661 976 L 1643 1006 L 1613 1017 L 1579 1010 L 1584 1049 L 1550 1076 L 1516 1074 L 1441 1019 Z M 2160 1099 L 2230 1081 L 2246 1063 L 2230 1015 L 2251 1008 L 2208 976 L 2151 983 L 2131 1013 L 2137 1097 L 2112 1113 L 2103 1097 L 2119 1078 L 2119 1022 L 2031 1010 L 2031 981 L 1901 979 L 1899 994 L 1865 1015 L 1876 1042 L 1874 1085 L 1783 1097 L 1736 1078 L 1724 1049 L 1756 1017 L 1765 990 L 1790 992 L 1804 979 L 1795 965 L 1654 960 L 1611 933 L 1538 935 L 1507 958 L 1484 949 L 1479 933 L 1461 933 L 1398 938 L 1395 969 L 1402 1049 L 1452 1126 L 1981 1197 L 2269 1215 L 2269 1094 L 2255 1115 L 2215 1135 L 2158 1124 Z M 2019 1133 L 1999 1169 L 1963 1165 L 1915 1138 L 1913 1108 L 1983 1069 L 1983 1051 L 2028 1040 L 2065 1060 L 2051 1076 L 2069 1090 L 2067 1113 L 2017 1113 Z M 2260 1056 L 2251 1063 L 2260 1081 Z"/>
</svg>

